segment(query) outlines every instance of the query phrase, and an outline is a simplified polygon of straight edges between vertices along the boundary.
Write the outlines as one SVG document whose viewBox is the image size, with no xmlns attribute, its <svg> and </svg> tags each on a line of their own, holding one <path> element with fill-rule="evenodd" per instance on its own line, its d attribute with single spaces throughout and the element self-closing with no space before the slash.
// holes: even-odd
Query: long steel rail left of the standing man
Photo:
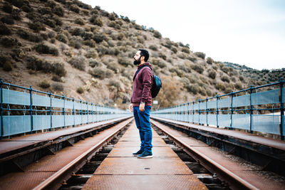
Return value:
<svg viewBox="0 0 285 190">
<path fill-rule="evenodd" d="M 115 135 L 117 135 L 120 130 L 123 130 L 124 127 L 126 127 L 133 118 L 130 118 L 124 122 L 121 122 L 118 125 L 122 125 L 118 130 L 115 130 L 113 133 L 111 133 L 108 137 L 105 137 L 105 139 L 101 140 L 98 144 L 95 144 L 93 147 L 88 149 L 86 152 L 83 152 L 80 156 L 78 156 L 76 159 L 73 159 L 72 162 L 68 163 L 65 167 L 62 169 L 56 171 L 52 176 L 48 177 L 45 181 L 41 182 L 41 184 L 38 184 L 38 186 L 34 187 L 34 190 L 39 189 L 58 189 L 58 187 L 61 186 L 61 183 L 68 179 L 73 172 L 78 171 L 83 165 L 93 157 L 93 155 L 98 152 L 103 146 L 108 143 Z"/>
</svg>

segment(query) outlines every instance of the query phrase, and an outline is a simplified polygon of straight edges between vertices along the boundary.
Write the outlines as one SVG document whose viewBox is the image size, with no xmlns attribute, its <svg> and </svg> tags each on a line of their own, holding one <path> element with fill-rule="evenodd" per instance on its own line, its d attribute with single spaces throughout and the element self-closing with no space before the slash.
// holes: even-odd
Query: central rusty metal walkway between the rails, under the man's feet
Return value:
<svg viewBox="0 0 285 190">
<path fill-rule="evenodd" d="M 207 189 L 158 137 L 153 137 L 152 159 L 133 157 L 140 147 L 134 128 L 130 126 L 83 189 Z"/>
</svg>

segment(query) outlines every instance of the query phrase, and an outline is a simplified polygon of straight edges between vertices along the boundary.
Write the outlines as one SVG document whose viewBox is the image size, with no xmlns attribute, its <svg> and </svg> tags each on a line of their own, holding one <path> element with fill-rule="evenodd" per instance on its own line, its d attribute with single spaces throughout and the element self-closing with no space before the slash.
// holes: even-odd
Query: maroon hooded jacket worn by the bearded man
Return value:
<svg viewBox="0 0 285 190">
<path fill-rule="evenodd" d="M 149 67 L 144 67 L 138 72 L 138 75 L 135 77 L 135 73 L 137 73 L 138 69 L 140 69 L 143 65 L 148 65 Z M 152 88 L 152 66 L 150 63 L 143 63 L 138 66 L 138 69 L 135 70 L 133 78 L 135 80 L 133 82 L 133 95 L 130 98 L 130 102 L 133 103 L 133 106 L 139 106 L 140 102 L 145 102 L 145 105 L 152 105 L 152 96 L 150 89 Z"/>
</svg>

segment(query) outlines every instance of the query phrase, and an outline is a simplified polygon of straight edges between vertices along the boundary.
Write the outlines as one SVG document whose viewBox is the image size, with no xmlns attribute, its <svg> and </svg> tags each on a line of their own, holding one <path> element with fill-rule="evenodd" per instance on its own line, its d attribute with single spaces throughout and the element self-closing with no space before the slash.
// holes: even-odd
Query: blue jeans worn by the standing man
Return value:
<svg viewBox="0 0 285 190">
<path fill-rule="evenodd" d="M 152 152 L 152 130 L 150 125 L 151 106 L 145 106 L 145 111 L 141 112 L 138 106 L 133 107 L 135 125 L 140 132 L 140 149 Z"/>
</svg>

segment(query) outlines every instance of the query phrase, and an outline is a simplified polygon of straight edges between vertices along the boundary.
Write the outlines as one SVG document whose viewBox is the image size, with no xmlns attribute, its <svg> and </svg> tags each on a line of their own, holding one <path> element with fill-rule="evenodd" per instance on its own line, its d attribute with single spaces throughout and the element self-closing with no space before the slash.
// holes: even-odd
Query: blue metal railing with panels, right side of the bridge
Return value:
<svg viewBox="0 0 285 190">
<path fill-rule="evenodd" d="M 270 88 L 270 89 L 269 89 Z M 151 112 L 199 125 L 279 134 L 284 139 L 284 80 Z M 280 112 L 280 113 L 279 113 Z"/>
</svg>

